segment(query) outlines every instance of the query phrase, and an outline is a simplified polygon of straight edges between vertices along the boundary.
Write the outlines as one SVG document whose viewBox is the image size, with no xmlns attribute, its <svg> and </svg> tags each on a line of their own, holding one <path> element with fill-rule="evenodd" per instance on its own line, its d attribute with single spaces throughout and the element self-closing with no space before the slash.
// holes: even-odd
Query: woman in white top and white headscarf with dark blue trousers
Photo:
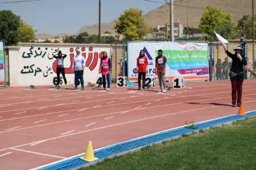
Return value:
<svg viewBox="0 0 256 170">
<path fill-rule="evenodd" d="M 77 90 L 77 86 L 79 84 L 79 79 L 81 83 L 81 90 L 84 90 L 84 67 L 85 67 L 85 59 L 81 55 L 79 49 L 76 49 L 76 56 L 73 60 L 73 69 L 75 70 L 75 87 L 73 90 Z"/>
</svg>

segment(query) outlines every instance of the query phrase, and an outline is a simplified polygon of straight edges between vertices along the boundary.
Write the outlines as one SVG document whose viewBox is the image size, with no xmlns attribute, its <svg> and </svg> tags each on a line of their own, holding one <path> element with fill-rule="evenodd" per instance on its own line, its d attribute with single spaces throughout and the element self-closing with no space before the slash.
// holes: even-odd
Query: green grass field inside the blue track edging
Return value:
<svg viewBox="0 0 256 170">
<path fill-rule="evenodd" d="M 256 169 L 256 117 L 80 168 L 84 169 Z"/>
</svg>

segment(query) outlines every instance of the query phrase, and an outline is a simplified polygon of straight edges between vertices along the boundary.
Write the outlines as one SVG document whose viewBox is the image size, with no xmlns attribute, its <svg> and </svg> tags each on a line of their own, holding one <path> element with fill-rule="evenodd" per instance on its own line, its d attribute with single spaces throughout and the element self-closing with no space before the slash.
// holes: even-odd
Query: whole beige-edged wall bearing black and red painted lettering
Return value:
<svg viewBox="0 0 256 170">
<path fill-rule="evenodd" d="M 56 77 L 56 73 L 53 71 L 53 62 L 55 62 L 56 59 L 52 58 L 52 53 L 55 51 L 58 52 L 59 50 L 61 50 L 63 54 L 67 54 L 67 58 L 64 59 L 66 78 L 68 84 L 73 84 L 74 74 L 67 69 L 72 67 L 72 54 L 75 54 L 77 47 L 83 50 L 82 53 L 85 53 L 85 61 L 89 63 L 84 70 L 84 81 L 96 82 L 96 78 L 100 76 L 98 74 L 100 53 L 106 51 L 110 56 L 110 44 L 20 43 L 16 48 L 9 47 L 10 86 L 53 85 L 53 78 Z M 92 56 L 92 61 L 90 62 L 89 56 Z M 95 67 L 93 67 L 94 62 L 97 63 Z"/>
</svg>

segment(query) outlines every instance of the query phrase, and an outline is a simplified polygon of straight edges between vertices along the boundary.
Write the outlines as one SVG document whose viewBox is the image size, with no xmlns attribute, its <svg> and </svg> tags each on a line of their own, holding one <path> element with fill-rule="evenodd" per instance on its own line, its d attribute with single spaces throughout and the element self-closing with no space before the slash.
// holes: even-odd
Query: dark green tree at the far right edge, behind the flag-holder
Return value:
<svg viewBox="0 0 256 170">
<path fill-rule="evenodd" d="M 254 23 L 255 23 L 255 20 L 254 20 Z M 238 35 L 245 37 L 246 39 L 253 39 L 252 25 L 253 25 L 253 17 L 251 15 L 243 15 L 243 17 L 237 22 Z"/>
</svg>

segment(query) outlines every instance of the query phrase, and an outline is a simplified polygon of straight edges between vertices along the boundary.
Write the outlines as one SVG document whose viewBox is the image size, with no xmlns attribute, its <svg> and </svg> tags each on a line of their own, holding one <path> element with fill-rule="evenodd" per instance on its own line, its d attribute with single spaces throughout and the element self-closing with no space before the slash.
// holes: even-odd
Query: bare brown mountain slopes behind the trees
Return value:
<svg viewBox="0 0 256 170">
<path fill-rule="evenodd" d="M 222 8 L 224 12 L 232 14 L 236 21 L 241 19 L 243 15 L 251 15 L 252 11 L 250 0 L 176 0 L 174 1 L 174 21 L 197 28 L 207 5 Z M 147 25 L 151 28 L 157 25 L 169 24 L 170 7 L 166 4 L 147 12 L 143 16 Z M 115 21 L 102 23 L 101 32 L 109 31 L 114 33 L 114 25 Z M 81 32 L 97 34 L 98 24 L 84 25 L 77 33 Z"/>
</svg>

